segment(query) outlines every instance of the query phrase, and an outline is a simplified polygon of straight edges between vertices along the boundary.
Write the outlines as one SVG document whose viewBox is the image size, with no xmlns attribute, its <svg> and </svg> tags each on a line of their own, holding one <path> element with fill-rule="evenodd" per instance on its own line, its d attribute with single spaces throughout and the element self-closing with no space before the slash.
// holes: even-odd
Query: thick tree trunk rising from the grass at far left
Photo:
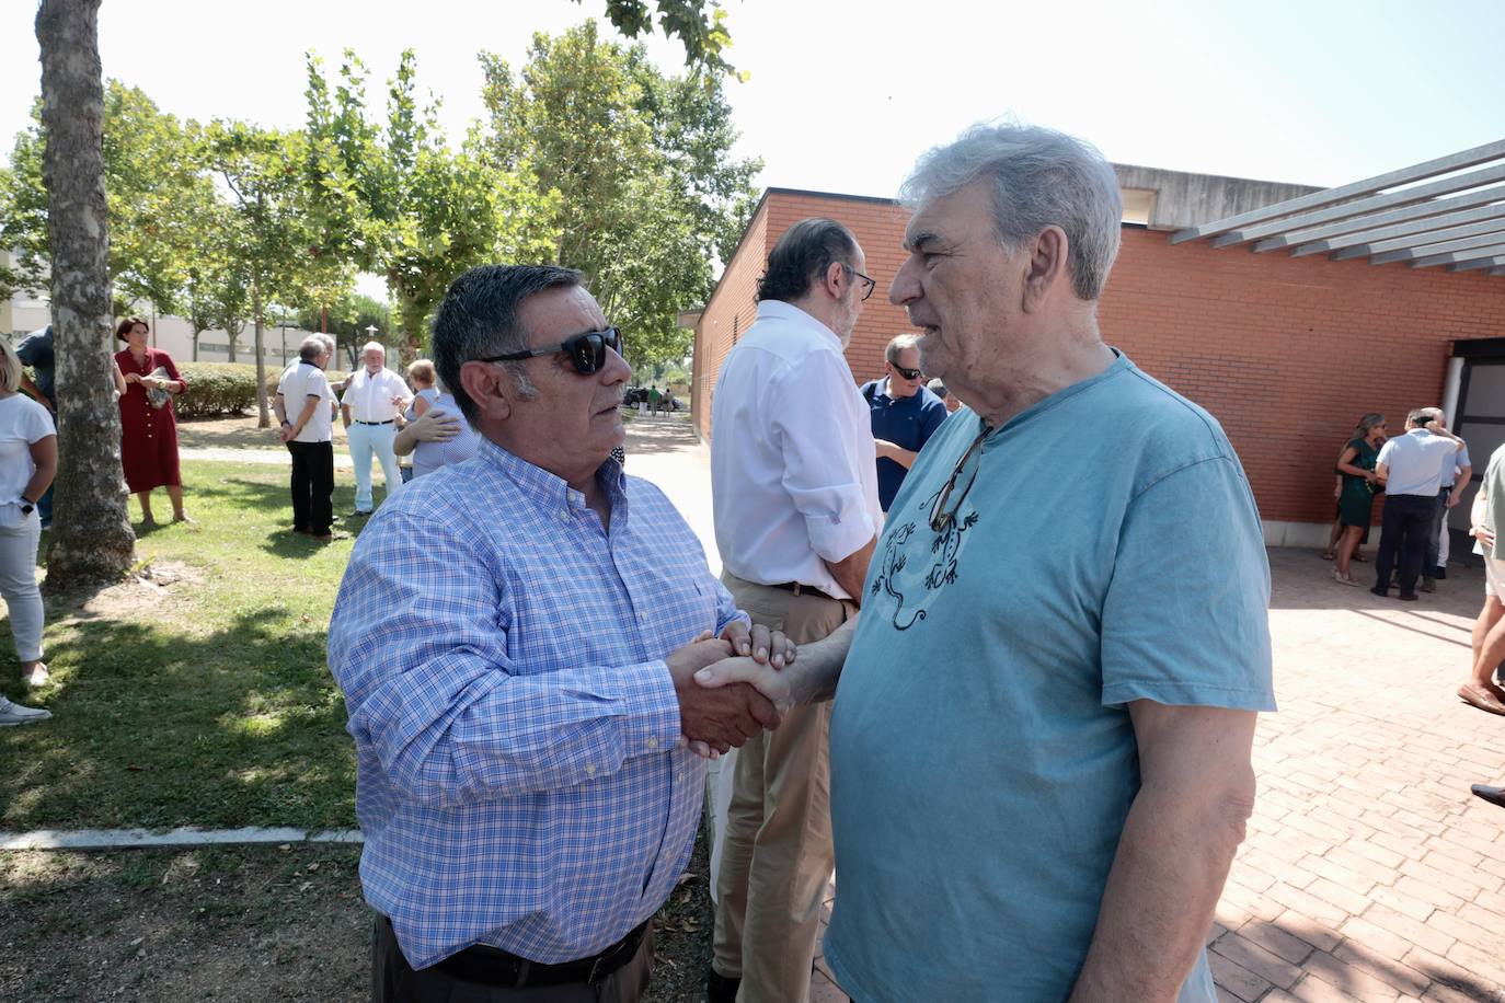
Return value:
<svg viewBox="0 0 1505 1003">
<path fill-rule="evenodd" d="M 57 492 L 47 549 L 50 592 L 113 582 L 135 561 L 120 469 L 120 409 L 110 371 L 108 212 L 99 0 L 42 0 L 42 125 L 57 356 Z"/>
</svg>

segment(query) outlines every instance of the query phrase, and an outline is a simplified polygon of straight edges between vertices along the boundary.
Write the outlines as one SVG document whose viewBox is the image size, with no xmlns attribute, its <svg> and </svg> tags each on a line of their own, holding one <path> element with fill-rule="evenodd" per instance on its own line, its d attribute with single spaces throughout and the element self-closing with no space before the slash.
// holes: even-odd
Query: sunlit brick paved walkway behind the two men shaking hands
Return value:
<svg viewBox="0 0 1505 1003">
<path fill-rule="evenodd" d="M 715 562 L 688 427 L 634 423 L 628 450 Z M 1270 565 L 1281 711 L 1261 716 L 1258 808 L 1209 938 L 1221 998 L 1505 1000 L 1505 811 L 1469 794 L 1505 782 L 1505 717 L 1454 696 L 1482 573 L 1403 605 L 1312 550 Z M 846 1000 L 819 961 L 811 1000 Z"/>
</svg>

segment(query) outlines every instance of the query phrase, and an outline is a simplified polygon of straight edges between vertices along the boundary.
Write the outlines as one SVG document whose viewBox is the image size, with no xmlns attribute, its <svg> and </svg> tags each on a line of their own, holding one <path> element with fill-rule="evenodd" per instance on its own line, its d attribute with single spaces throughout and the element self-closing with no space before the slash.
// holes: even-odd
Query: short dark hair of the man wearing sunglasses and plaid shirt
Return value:
<svg viewBox="0 0 1505 1003">
<path fill-rule="evenodd" d="M 461 367 L 471 359 L 507 355 L 528 347 L 528 331 L 518 320 L 522 302 L 549 289 L 579 286 L 584 275 L 555 265 L 477 265 L 453 283 L 433 314 L 433 367 L 465 418 L 477 421 L 480 411 L 465 392 Z M 500 362 L 507 368 L 518 397 L 539 395 L 522 362 Z"/>
</svg>

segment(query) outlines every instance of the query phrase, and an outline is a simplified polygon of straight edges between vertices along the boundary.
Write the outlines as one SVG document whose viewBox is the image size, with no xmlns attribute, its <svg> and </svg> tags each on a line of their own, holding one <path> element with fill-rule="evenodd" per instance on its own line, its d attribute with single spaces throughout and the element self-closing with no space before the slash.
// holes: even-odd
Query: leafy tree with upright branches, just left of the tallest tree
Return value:
<svg viewBox="0 0 1505 1003">
<path fill-rule="evenodd" d="M 387 280 L 397 307 L 399 347 L 412 358 L 450 281 L 483 262 L 539 260 L 555 235 L 552 198 L 525 165 L 501 171 L 470 150 L 451 150 L 436 105 L 414 99 L 414 54 L 388 83 L 387 119 L 366 107 L 367 71 L 345 53 L 331 87 L 309 57 L 307 180 L 321 253 Z"/>
</svg>

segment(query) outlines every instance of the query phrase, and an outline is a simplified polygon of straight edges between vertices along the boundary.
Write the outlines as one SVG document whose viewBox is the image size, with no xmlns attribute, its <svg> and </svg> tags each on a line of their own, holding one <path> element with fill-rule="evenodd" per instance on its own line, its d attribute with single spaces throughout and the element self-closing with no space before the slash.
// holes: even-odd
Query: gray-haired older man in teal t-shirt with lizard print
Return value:
<svg viewBox="0 0 1505 1003">
<path fill-rule="evenodd" d="M 1102 341 L 1121 206 L 1096 150 L 980 126 L 905 194 L 889 298 L 969 411 L 898 490 L 856 627 L 700 681 L 840 684 L 825 953 L 859 1003 L 1212 1003 L 1202 944 L 1275 710 L 1243 468 Z"/>
</svg>

